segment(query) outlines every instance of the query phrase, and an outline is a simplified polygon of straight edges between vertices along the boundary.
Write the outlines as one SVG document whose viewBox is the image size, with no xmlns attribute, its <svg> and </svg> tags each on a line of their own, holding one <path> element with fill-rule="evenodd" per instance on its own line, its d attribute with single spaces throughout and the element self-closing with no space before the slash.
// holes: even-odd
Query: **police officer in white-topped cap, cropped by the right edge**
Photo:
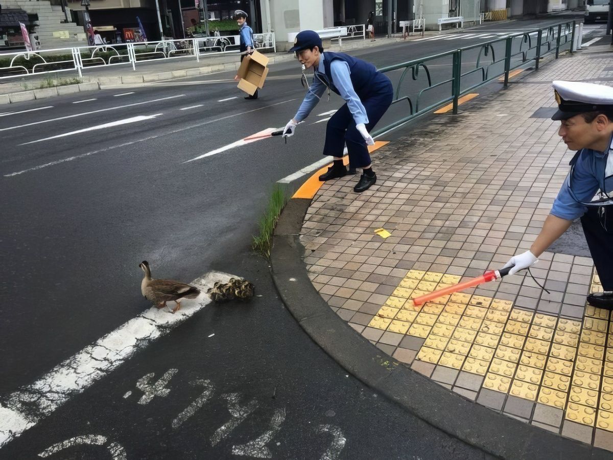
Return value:
<svg viewBox="0 0 613 460">
<path fill-rule="evenodd" d="M 613 88 L 579 82 L 554 82 L 560 120 L 558 135 L 577 150 L 571 171 L 554 201 L 551 213 L 530 250 L 516 255 L 509 272 L 530 267 L 573 220 L 581 218 L 585 239 L 604 293 L 587 297 L 594 307 L 613 309 Z M 600 200 L 593 201 L 597 191 Z"/>
</svg>

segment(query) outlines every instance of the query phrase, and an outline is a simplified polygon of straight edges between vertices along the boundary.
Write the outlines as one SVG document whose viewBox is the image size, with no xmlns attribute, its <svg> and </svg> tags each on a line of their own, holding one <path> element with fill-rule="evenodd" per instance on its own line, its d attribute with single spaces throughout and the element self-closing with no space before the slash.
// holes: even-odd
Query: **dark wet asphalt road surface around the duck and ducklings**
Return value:
<svg viewBox="0 0 613 460">
<path fill-rule="evenodd" d="M 543 24 L 488 25 L 474 37 L 352 54 L 383 67 Z M 451 76 L 449 63 L 433 64 L 433 79 Z M 346 375 L 284 310 L 266 261 L 251 252 L 272 186 L 322 158 L 319 121 L 341 105 L 324 96 L 287 144 L 223 150 L 294 115 L 305 91 L 299 66 L 278 64 L 269 75 L 257 101 L 244 101 L 223 72 L 0 113 L 0 401 L 147 309 L 143 259 L 154 277 L 189 281 L 221 270 L 252 280 L 261 296 L 201 310 L 50 415 L 35 414 L 39 423 L 0 458 L 35 458 L 78 436 L 89 436 L 85 445 L 51 458 L 109 458 L 107 447 L 116 453 L 118 445 L 127 458 L 230 458 L 254 448 L 273 458 L 319 458 L 327 448 L 338 453 L 330 458 L 484 458 Z M 381 126 L 406 109 L 390 109 Z M 151 383 L 170 374 L 148 393 L 137 381 L 152 372 Z M 139 404 L 143 394 L 153 397 Z M 191 404 L 197 410 L 173 425 Z M 228 407 L 240 423 L 215 437 Z"/>
</svg>

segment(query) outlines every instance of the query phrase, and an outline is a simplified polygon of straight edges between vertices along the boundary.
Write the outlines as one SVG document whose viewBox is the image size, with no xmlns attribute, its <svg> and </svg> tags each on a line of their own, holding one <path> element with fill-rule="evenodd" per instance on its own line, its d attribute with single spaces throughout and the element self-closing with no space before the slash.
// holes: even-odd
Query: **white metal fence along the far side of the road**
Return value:
<svg viewBox="0 0 613 460">
<path fill-rule="evenodd" d="M 257 50 L 276 52 L 274 33 L 254 34 L 254 40 Z M 83 71 L 93 67 L 131 64 L 136 70 L 138 62 L 160 59 L 195 58 L 199 62 L 201 57 L 237 54 L 239 47 L 239 36 L 219 36 L 0 53 L 0 79 L 69 71 L 82 77 Z"/>
</svg>

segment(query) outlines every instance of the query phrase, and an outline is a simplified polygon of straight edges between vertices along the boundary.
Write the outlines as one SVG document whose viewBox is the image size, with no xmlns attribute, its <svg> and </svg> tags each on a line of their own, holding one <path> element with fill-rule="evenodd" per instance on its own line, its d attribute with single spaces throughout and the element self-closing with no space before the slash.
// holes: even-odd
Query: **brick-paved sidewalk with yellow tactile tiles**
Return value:
<svg viewBox="0 0 613 460">
<path fill-rule="evenodd" d="M 530 247 L 574 153 L 549 118 L 551 80 L 611 85 L 610 56 L 559 59 L 433 118 L 373 155 L 367 192 L 353 193 L 352 177 L 322 186 L 301 232 L 313 285 L 378 348 L 471 401 L 607 450 L 613 328 L 585 305 L 599 288 L 592 259 L 544 253 L 531 271 L 550 294 L 514 275 L 423 307 L 410 298 Z"/>
</svg>

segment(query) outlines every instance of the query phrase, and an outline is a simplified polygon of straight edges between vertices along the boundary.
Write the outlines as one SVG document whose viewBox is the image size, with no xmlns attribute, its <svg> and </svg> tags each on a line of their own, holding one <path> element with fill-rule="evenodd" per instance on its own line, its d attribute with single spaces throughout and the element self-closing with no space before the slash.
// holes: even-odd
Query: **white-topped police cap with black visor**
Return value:
<svg viewBox="0 0 613 460">
<path fill-rule="evenodd" d="M 567 120 L 585 112 L 613 113 L 613 88 L 583 82 L 554 82 L 558 111 L 552 120 Z"/>
</svg>

